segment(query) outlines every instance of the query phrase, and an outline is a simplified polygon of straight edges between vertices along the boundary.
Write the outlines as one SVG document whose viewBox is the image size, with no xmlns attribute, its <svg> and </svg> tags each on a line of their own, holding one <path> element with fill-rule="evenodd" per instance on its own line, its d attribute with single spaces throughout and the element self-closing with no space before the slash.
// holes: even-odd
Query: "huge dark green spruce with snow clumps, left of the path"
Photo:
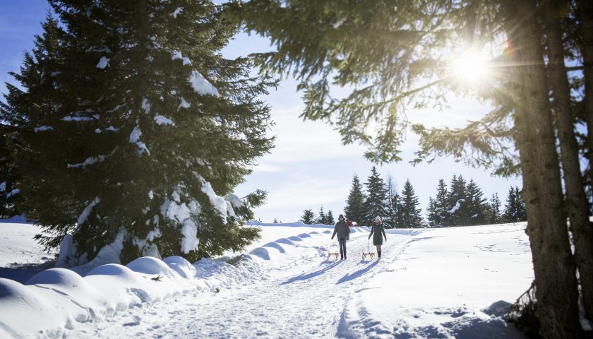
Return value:
<svg viewBox="0 0 593 339">
<path fill-rule="evenodd" d="M 18 209 L 71 255 L 94 258 L 114 240 L 120 260 L 239 251 L 256 191 L 232 194 L 272 147 L 273 85 L 220 50 L 236 26 L 210 1 L 50 0 L 35 48 L 8 86 L 1 120 L 16 126 Z M 13 146 L 11 146 L 13 147 Z M 66 237 L 66 234 L 71 234 Z M 121 236 L 119 236 L 121 235 Z"/>
</svg>

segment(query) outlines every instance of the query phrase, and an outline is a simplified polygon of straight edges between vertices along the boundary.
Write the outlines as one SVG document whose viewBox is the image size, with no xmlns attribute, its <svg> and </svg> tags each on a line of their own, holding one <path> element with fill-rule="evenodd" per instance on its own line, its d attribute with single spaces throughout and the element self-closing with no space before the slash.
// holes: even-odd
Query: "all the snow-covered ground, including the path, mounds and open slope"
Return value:
<svg viewBox="0 0 593 339">
<path fill-rule="evenodd" d="M 14 227 L 37 232 L 0 224 L 2 265 L 23 261 L 4 260 Z M 139 258 L 85 277 L 0 278 L 0 338 L 524 338 L 500 315 L 533 279 L 525 223 L 387 230 L 379 260 L 361 260 L 369 230 L 352 227 L 345 261 L 327 260 L 333 227 L 260 227 L 228 262 Z"/>
</svg>

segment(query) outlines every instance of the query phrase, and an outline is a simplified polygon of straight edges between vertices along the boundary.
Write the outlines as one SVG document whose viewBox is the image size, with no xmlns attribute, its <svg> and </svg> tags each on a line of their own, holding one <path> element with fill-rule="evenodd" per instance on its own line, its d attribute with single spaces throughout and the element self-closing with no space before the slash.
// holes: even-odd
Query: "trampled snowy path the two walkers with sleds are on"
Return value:
<svg viewBox="0 0 593 339">
<path fill-rule="evenodd" d="M 390 234 L 381 260 L 361 261 L 367 235 L 353 234 L 347 261 L 325 261 L 327 249 L 317 247 L 316 254 L 281 268 L 263 265 L 261 279 L 244 285 L 143 304 L 113 318 L 80 324 L 69 334 L 73 338 L 350 337 L 345 322 L 340 323 L 347 301 L 376 273 L 387 270 L 412 239 Z"/>
</svg>

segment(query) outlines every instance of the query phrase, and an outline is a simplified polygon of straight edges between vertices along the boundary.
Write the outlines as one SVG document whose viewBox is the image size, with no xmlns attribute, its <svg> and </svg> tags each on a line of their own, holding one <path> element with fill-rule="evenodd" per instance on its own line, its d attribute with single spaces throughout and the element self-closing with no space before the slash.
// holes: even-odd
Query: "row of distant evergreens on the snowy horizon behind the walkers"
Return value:
<svg viewBox="0 0 593 339">
<path fill-rule="evenodd" d="M 453 175 L 450 189 L 444 179 L 439 180 L 436 197 L 429 199 L 426 220 L 409 179 L 398 192 L 393 177 L 388 175 L 385 182 L 373 167 L 364 186 L 366 189 L 363 190 L 355 174 L 344 208 L 346 218 L 359 225 L 371 225 L 376 216 L 380 216 L 388 228 L 450 227 L 527 220 L 525 203 L 518 187 L 509 189 L 502 210 L 498 193 L 492 194 L 488 200 L 473 179 L 468 183 L 462 175 Z"/>
</svg>

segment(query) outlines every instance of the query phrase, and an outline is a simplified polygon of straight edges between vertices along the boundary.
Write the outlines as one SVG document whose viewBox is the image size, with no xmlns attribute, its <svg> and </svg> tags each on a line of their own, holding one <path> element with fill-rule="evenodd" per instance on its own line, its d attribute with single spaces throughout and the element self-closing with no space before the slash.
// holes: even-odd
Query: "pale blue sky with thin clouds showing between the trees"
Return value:
<svg viewBox="0 0 593 339">
<path fill-rule="evenodd" d="M 18 71 L 23 61 L 23 52 L 33 46 L 33 35 L 41 32 L 49 6 L 44 0 L 0 0 L 0 92 L 6 93 L 6 81 L 14 83 L 9 71 Z M 224 49 L 227 57 L 246 55 L 270 49 L 268 41 L 257 36 L 241 34 Z M 365 148 L 359 145 L 341 145 L 340 136 L 321 121 L 302 121 L 299 114 L 304 107 L 301 93 L 296 91 L 296 82 L 284 79 L 280 87 L 264 98 L 272 107 L 275 126 L 270 136 L 277 137 L 272 153 L 258 160 L 258 167 L 246 177 L 246 182 L 236 188 L 236 194 L 244 196 L 255 189 L 268 191 L 268 203 L 256 209 L 256 218 L 272 222 L 299 219 L 305 208 L 315 213 L 323 205 L 325 211 L 334 215 L 342 213 L 352 176 L 358 174 L 361 182 L 371 174 L 373 164 L 365 160 Z M 414 122 L 430 126 L 462 126 L 469 119 L 478 119 L 488 107 L 474 100 L 449 98 L 450 107 L 444 112 L 430 109 L 409 114 Z M 430 165 L 409 165 L 417 150 L 417 138 L 408 133 L 403 146 L 404 161 L 378 167 L 386 179 L 391 174 L 398 189 L 409 179 L 419 196 L 421 208 L 426 208 L 429 196 L 434 196 L 438 179 L 450 181 L 453 174 L 462 174 L 467 180 L 474 179 L 486 197 L 498 192 L 504 202 L 509 186 L 521 187 L 520 178 L 503 179 L 491 177 L 484 169 L 473 169 L 455 163 L 452 159 L 440 159 Z"/>
</svg>

